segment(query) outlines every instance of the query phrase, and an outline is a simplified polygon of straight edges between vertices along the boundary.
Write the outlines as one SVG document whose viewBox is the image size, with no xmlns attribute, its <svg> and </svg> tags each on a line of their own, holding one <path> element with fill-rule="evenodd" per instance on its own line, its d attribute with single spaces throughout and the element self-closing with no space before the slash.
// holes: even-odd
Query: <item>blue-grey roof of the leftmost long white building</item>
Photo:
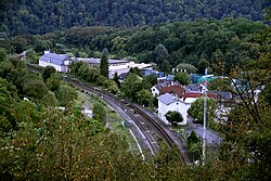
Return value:
<svg viewBox="0 0 271 181">
<path fill-rule="evenodd" d="M 66 54 L 55 54 L 55 53 L 46 53 L 39 60 L 55 65 L 64 65 L 64 61 L 72 61 L 72 59 Z"/>
</svg>

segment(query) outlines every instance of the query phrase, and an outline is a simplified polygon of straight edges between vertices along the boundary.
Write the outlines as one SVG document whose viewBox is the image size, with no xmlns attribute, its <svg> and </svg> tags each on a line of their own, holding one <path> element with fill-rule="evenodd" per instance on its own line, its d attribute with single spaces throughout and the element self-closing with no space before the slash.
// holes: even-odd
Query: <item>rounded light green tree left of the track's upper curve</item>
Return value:
<svg viewBox="0 0 271 181">
<path fill-rule="evenodd" d="M 77 92 L 68 85 L 61 85 L 56 91 L 56 98 L 61 106 L 66 106 L 69 102 L 77 99 Z"/>
</svg>

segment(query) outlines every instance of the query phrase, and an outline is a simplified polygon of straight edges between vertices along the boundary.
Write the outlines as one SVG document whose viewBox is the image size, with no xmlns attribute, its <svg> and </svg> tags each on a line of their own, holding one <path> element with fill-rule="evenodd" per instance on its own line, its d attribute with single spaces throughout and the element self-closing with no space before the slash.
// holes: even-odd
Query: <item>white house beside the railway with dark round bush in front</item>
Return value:
<svg viewBox="0 0 271 181">
<path fill-rule="evenodd" d="M 165 115 L 171 112 L 179 112 L 182 117 L 183 121 L 180 125 L 186 125 L 186 109 L 185 104 L 181 104 L 181 100 L 170 93 L 165 93 L 157 98 L 158 100 L 158 117 L 166 124 L 169 125 L 168 120 L 166 119 Z"/>
</svg>

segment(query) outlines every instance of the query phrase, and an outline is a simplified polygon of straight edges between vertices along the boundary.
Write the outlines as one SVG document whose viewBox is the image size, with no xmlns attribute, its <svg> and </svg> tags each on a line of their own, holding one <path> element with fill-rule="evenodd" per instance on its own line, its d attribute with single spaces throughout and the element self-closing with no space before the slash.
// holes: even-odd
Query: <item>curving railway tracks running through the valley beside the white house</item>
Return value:
<svg viewBox="0 0 271 181">
<path fill-rule="evenodd" d="M 41 73 L 41 70 L 35 66 L 27 65 L 27 67 L 34 72 Z M 179 153 L 180 153 L 180 159 L 182 163 L 189 165 L 191 164 L 186 148 L 183 146 L 182 143 L 179 143 L 177 139 L 170 134 L 170 131 L 168 131 L 165 125 L 159 124 L 160 121 L 157 121 L 157 117 L 150 116 L 150 113 L 147 114 L 144 108 L 141 106 L 130 103 L 126 100 L 119 100 L 115 95 L 102 91 L 98 88 L 86 86 L 78 80 L 70 79 L 67 77 L 63 78 L 64 81 L 73 83 L 75 87 L 89 91 L 92 93 L 95 93 L 103 98 L 104 101 L 107 102 L 113 107 L 119 107 L 122 111 L 126 112 L 126 114 L 137 124 L 137 126 L 140 128 L 140 130 L 143 132 L 146 141 L 150 143 L 151 146 L 151 153 L 154 155 L 159 151 L 159 142 L 165 141 L 169 146 L 177 145 Z"/>
</svg>

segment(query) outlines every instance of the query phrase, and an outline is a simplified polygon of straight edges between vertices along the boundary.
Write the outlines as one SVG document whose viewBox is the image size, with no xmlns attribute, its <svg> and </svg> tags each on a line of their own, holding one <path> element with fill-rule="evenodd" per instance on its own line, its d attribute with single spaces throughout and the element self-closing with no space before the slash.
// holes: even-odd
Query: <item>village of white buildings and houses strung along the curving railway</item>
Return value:
<svg viewBox="0 0 271 181">
<path fill-rule="evenodd" d="M 67 54 L 55 54 L 44 51 L 44 54 L 39 59 L 39 66 L 53 66 L 60 73 L 68 74 L 70 66 L 78 62 L 82 62 L 83 65 L 100 66 L 101 59 L 69 57 Z M 212 106 L 208 103 L 208 107 L 211 108 L 207 111 L 207 114 L 210 114 L 207 116 L 209 119 L 207 121 L 211 121 L 208 126 L 212 125 L 212 127 L 207 129 L 209 131 L 207 142 L 219 144 L 222 141 L 218 127 L 227 121 L 232 106 L 243 96 L 235 93 L 237 92 L 236 89 L 245 89 L 245 85 L 242 85 L 237 79 L 230 79 L 224 76 L 195 74 L 196 68 L 190 64 L 179 64 L 176 68 L 172 68 L 171 74 L 166 74 L 156 70 L 154 64 L 111 59 L 108 60 L 108 78 L 113 79 L 117 76 L 118 80 L 124 82 L 132 68 L 138 69 L 142 77 L 150 75 L 156 77 L 156 83 L 149 91 L 157 100 L 156 106 L 150 104 L 153 112 L 159 117 L 157 121 L 162 121 L 169 127 L 176 127 L 175 130 L 182 132 L 184 137 L 188 137 L 193 130 L 203 139 L 202 112 L 204 108 L 203 98 L 206 93 L 207 99 L 214 102 Z M 180 79 L 182 82 L 178 80 L 180 75 L 184 77 Z M 256 89 L 254 94 L 249 96 L 257 101 L 259 92 L 260 89 Z M 202 106 L 198 107 L 197 105 L 196 109 L 190 111 L 192 109 L 191 106 L 199 104 L 198 102 L 202 102 Z M 142 104 L 142 106 L 150 105 Z M 177 113 L 179 117 L 177 116 L 177 118 L 171 120 L 169 113 Z"/>
</svg>

